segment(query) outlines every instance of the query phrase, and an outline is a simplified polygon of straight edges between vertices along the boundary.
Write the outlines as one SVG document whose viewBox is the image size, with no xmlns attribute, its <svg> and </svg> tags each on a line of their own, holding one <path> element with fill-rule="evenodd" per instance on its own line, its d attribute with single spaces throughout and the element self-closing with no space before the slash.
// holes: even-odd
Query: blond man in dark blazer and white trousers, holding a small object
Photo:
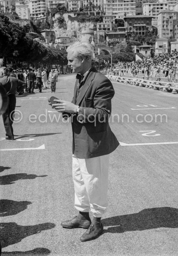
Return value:
<svg viewBox="0 0 178 256">
<path fill-rule="evenodd" d="M 79 214 L 61 223 L 65 228 L 87 228 L 80 240 L 95 239 L 103 232 L 101 217 L 107 208 L 109 154 L 119 142 L 109 127 L 112 83 L 91 64 L 91 44 L 77 41 L 67 48 L 68 65 L 76 76 L 72 103 L 55 99 L 52 107 L 71 116 L 73 134 L 72 176 L 75 208 Z M 94 214 L 91 221 L 89 210 Z"/>
</svg>

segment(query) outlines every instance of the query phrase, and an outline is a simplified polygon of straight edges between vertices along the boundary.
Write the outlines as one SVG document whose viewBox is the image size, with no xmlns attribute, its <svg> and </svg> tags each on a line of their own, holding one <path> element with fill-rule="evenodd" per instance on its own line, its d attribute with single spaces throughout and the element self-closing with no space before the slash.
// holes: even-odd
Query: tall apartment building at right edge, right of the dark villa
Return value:
<svg viewBox="0 0 178 256">
<path fill-rule="evenodd" d="M 158 14 L 158 36 L 178 38 L 178 12 L 167 10 Z"/>
</svg>

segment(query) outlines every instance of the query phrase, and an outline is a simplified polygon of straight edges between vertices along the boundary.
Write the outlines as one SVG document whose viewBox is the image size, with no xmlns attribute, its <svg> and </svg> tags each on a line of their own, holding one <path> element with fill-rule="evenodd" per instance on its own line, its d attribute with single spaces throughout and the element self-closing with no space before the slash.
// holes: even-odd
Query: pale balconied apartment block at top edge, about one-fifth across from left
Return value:
<svg viewBox="0 0 178 256">
<path fill-rule="evenodd" d="M 30 16 L 34 18 L 45 17 L 48 8 L 48 0 L 29 0 Z"/>
</svg>

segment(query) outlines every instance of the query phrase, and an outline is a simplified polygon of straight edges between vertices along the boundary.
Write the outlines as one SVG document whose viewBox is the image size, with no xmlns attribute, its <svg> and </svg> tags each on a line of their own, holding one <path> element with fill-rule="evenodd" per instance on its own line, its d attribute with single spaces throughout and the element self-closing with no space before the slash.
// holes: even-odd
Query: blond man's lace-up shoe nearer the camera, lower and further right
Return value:
<svg viewBox="0 0 178 256">
<path fill-rule="evenodd" d="M 91 224 L 90 227 L 81 236 L 80 241 L 86 242 L 86 241 L 93 240 L 102 233 L 103 233 L 103 224 L 101 224 L 101 227 L 97 227 Z"/>
</svg>

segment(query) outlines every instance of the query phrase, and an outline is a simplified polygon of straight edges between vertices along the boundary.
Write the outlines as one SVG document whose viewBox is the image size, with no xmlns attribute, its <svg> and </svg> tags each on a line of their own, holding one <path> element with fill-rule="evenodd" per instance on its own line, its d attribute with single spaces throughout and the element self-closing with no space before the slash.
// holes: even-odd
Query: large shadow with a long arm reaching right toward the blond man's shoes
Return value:
<svg viewBox="0 0 178 256">
<path fill-rule="evenodd" d="M 22 239 L 55 227 L 54 223 L 42 223 L 34 226 L 20 226 L 15 222 L 1 223 L 2 248 L 19 243 Z M 35 239 L 35 238 L 34 238 Z M 16 255 L 16 254 L 15 254 Z"/>
</svg>

